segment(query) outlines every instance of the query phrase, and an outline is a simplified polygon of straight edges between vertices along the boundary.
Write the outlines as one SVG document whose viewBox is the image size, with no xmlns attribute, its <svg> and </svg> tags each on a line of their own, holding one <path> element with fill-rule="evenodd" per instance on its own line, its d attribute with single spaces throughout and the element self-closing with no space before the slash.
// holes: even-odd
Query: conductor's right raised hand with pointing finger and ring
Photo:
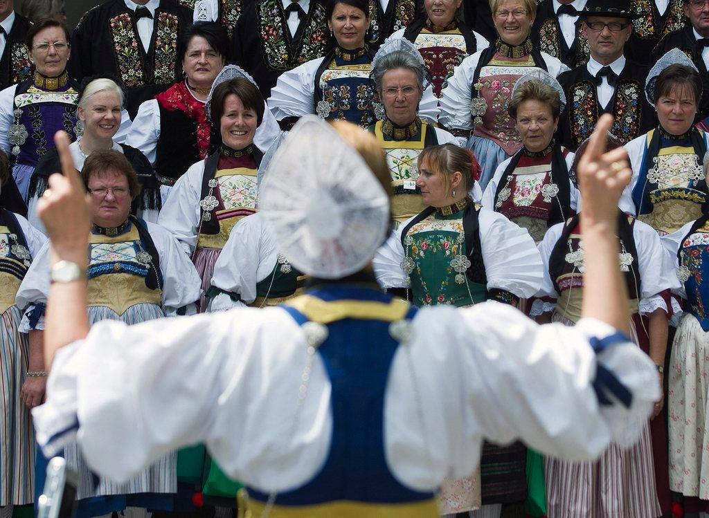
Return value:
<svg viewBox="0 0 709 518">
<path fill-rule="evenodd" d="M 605 135 L 612 125 L 608 113 L 598 120 L 576 171 L 584 220 L 601 223 L 618 218 L 618 201 L 632 176 L 625 148 L 604 152 Z"/>
</svg>

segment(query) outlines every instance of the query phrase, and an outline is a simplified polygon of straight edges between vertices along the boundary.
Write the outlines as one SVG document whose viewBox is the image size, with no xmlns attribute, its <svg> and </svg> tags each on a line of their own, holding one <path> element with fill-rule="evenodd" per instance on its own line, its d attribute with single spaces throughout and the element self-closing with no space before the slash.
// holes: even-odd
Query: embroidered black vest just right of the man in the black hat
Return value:
<svg viewBox="0 0 709 518">
<path fill-rule="evenodd" d="M 654 61 L 648 50 L 654 49 L 664 36 L 684 27 L 684 2 L 630 0 L 630 9 L 633 37 L 626 44 L 627 55 L 634 61 L 652 65 Z"/>
</svg>

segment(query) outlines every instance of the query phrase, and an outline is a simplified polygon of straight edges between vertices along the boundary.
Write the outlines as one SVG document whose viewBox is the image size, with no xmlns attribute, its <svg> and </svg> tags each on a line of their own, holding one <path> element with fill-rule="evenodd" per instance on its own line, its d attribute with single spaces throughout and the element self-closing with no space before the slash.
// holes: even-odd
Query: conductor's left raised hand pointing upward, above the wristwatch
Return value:
<svg viewBox="0 0 709 518">
<path fill-rule="evenodd" d="M 77 174 L 69 151 L 69 135 L 59 131 L 55 143 L 62 163 L 62 174 L 49 177 L 49 188 L 37 203 L 37 212 L 47 229 L 54 259 L 65 259 L 84 266 L 91 218 L 89 197 Z"/>
</svg>

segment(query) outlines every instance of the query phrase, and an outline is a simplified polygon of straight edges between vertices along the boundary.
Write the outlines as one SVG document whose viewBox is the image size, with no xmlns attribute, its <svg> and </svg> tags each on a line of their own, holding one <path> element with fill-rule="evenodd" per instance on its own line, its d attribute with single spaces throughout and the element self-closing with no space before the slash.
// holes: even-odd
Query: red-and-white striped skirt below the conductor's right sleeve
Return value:
<svg viewBox="0 0 709 518">
<path fill-rule="evenodd" d="M 554 322 L 574 322 L 554 313 Z M 637 334 L 636 334 L 637 337 Z M 545 461 L 549 518 L 654 518 L 661 515 L 649 428 L 629 449 L 611 443 L 596 462 Z"/>
</svg>

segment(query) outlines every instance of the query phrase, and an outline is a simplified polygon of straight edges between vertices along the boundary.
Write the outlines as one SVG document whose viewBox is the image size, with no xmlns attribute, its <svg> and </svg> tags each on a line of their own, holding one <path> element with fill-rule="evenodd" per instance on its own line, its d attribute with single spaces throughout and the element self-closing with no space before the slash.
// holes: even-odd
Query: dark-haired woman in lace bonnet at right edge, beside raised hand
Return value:
<svg viewBox="0 0 709 518">
<path fill-rule="evenodd" d="M 620 207 L 660 235 L 699 218 L 709 194 L 701 166 L 709 135 L 694 126 L 701 87 L 687 55 L 667 52 L 645 83 L 659 124 L 625 145 L 633 174 Z"/>
</svg>

